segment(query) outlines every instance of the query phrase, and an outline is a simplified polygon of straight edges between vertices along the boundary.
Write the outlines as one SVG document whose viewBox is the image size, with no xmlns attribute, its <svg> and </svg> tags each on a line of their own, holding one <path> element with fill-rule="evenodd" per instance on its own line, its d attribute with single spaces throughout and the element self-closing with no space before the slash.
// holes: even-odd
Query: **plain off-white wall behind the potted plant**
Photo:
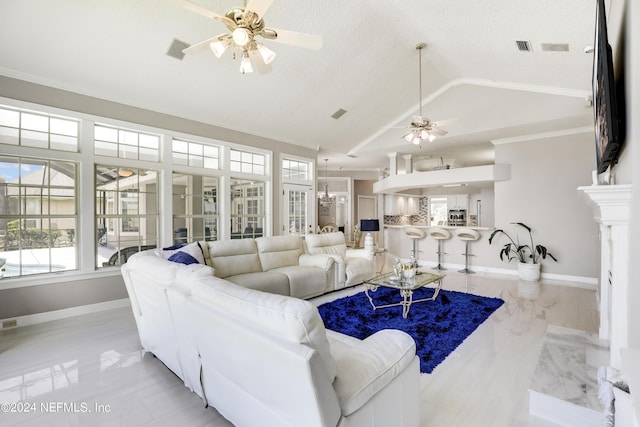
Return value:
<svg viewBox="0 0 640 427">
<path fill-rule="evenodd" d="M 529 225 L 534 243 L 558 258 L 557 263 L 545 261 L 543 272 L 599 277 L 598 228 L 577 191 L 591 183 L 593 138 L 593 133 L 578 133 L 495 147 L 496 164 L 511 167 L 511 179 L 495 183 L 495 226 L 512 230 L 511 222 Z"/>
</svg>

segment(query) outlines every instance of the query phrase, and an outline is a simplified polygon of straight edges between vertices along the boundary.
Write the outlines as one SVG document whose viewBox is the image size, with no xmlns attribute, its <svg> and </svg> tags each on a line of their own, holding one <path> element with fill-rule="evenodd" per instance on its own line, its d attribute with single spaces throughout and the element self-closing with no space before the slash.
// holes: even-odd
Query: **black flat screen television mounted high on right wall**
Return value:
<svg viewBox="0 0 640 427">
<path fill-rule="evenodd" d="M 613 73 L 613 53 L 607 36 L 604 0 L 597 0 L 593 51 L 593 110 L 595 118 L 596 161 L 598 174 L 615 164 L 620 155 L 621 110 L 617 102 Z M 623 95 L 624 96 L 624 95 Z"/>
</svg>

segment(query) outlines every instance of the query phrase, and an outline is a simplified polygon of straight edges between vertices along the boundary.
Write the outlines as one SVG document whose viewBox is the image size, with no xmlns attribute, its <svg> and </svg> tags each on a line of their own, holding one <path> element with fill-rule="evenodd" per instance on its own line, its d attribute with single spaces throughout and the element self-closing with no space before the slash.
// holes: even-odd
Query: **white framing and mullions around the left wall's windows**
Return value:
<svg viewBox="0 0 640 427">
<path fill-rule="evenodd" d="M 171 182 L 171 174 L 175 171 L 185 173 L 194 173 L 194 169 L 198 169 L 201 174 L 202 170 L 192 166 L 175 165 L 171 158 L 171 141 L 173 138 L 194 141 L 207 145 L 219 147 L 219 166 L 218 170 L 211 170 L 212 174 L 219 178 L 218 200 L 229 200 L 231 176 L 244 179 L 252 179 L 262 181 L 264 183 L 263 200 L 264 206 L 273 206 L 273 176 L 271 171 L 273 168 L 274 153 L 271 150 L 261 149 L 250 145 L 237 144 L 229 141 L 222 141 L 212 138 L 200 137 L 196 135 L 172 131 L 170 129 L 161 129 L 152 126 L 136 124 L 108 117 L 92 115 L 76 111 L 68 111 L 56 107 L 49 107 L 41 104 L 30 103 L 21 100 L 0 97 L 0 106 L 8 109 L 24 109 L 38 114 L 49 114 L 51 116 L 60 116 L 78 121 L 78 150 L 77 152 L 56 151 L 48 148 L 39 147 L 23 147 L 19 145 L 6 144 L 0 142 L 0 149 L 3 155 L 17 157 L 31 157 L 46 161 L 61 160 L 77 163 L 77 182 L 76 182 L 76 203 L 77 223 L 76 223 L 76 247 L 78 261 L 77 269 L 72 271 L 64 271 L 60 273 L 44 273 L 38 275 L 28 275 L 15 278 L 0 279 L 0 290 L 13 289 L 27 286 L 47 285 L 53 283 L 64 283 L 70 280 L 94 280 L 98 277 L 114 277 L 120 276 L 119 268 L 98 268 L 96 265 L 95 249 L 98 244 L 98 233 L 96 230 L 97 212 L 95 207 L 95 165 L 97 164 L 118 164 L 118 166 L 129 168 L 148 168 L 158 171 L 158 198 L 159 211 L 161 212 L 158 220 L 158 241 L 159 245 L 168 246 L 173 239 L 172 234 L 172 207 L 171 207 L 171 190 L 167 183 Z M 94 125 L 103 125 L 107 127 L 124 128 L 133 132 L 142 134 L 152 134 L 159 137 L 158 144 L 158 161 L 150 161 L 145 159 L 131 159 L 122 157 L 105 156 L 95 153 L 94 148 Z M 246 172 L 232 172 L 229 164 L 231 150 L 244 151 L 254 155 L 263 156 L 264 164 L 260 174 Z M 262 162 L 258 162 L 262 163 Z M 226 205 L 226 202 L 221 202 Z M 231 212 L 226 206 L 219 209 L 220 224 L 230 223 Z M 264 214 L 264 235 L 271 235 L 273 227 L 272 209 L 265 209 Z M 229 239 L 230 236 L 224 226 L 218 230 L 218 239 Z M 28 280 L 24 280 L 27 278 Z"/>
</svg>

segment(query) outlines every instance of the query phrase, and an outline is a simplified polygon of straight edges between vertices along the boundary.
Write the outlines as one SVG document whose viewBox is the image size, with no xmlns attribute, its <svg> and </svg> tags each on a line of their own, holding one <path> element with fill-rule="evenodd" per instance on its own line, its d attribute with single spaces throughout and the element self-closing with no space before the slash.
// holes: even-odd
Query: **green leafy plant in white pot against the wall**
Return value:
<svg viewBox="0 0 640 427">
<path fill-rule="evenodd" d="M 536 245 L 533 243 L 533 235 L 531 234 L 531 227 L 522 222 L 512 222 L 512 224 L 518 225 L 529 233 L 529 243 L 520 243 L 520 238 L 516 236 L 515 240 L 502 229 L 496 229 L 489 236 L 489 244 L 493 242 L 493 238 L 498 234 L 504 234 L 509 239 L 509 243 L 505 244 L 500 250 L 500 259 L 510 262 L 512 260 L 518 260 L 518 277 L 521 280 L 538 281 L 540 279 L 540 260 L 551 258 L 554 261 L 558 261 L 555 256 L 547 250 L 545 246 Z"/>
</svg>

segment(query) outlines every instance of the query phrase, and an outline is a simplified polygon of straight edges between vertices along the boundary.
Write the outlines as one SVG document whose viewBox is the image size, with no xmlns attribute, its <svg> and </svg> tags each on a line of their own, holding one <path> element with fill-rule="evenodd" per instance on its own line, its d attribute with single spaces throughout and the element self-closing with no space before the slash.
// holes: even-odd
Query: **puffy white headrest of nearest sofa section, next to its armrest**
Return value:
<svg viewBox="0 0 640 427">
<path fill-rule="evenodd" d="M 333 381 L 335 378 L 337 368 L 324 323 L 313 303 L 207 279 L 195 282 L 191 295 L 239 321 L 249 323 L 255 330 L 313 348 L 321 357 L 329 379 Z"/>
</svg>

